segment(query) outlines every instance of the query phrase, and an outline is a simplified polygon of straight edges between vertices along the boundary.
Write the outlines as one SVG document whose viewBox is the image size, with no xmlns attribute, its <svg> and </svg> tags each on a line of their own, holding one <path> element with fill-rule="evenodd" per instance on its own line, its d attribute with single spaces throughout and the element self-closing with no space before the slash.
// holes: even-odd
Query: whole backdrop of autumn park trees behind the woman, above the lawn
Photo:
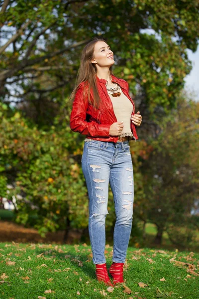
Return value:
<svg viewBox="0 0 199 299">
<path fill-rule="evenodd" d="M 0 241 L 90 246 L 85 136 L 70 130 L 68 98 L 83 47 L 100 36 L 143 117 L 130 142 L 129 246 L 199 252 L 199 98 L 185 86 L 199 2 L 5 0 L 0 9 Z M 111 247 L 110 189 L 108 212 Z"/>
</svg>

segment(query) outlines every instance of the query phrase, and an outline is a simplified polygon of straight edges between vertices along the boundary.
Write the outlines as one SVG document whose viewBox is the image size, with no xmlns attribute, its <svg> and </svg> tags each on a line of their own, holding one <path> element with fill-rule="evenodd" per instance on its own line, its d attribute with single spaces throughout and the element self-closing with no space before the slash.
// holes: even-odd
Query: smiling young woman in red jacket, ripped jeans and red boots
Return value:
<svg viewBox="0 0 199 299">
<path fill-rule="evenodd" d="M 133 165 L 129 141 L 137 140 L 135 126 L 142 116 L 135 114 L 128 83 L 115 77 L 110 46 L 93 38 L 83 49 L 73 101 L 70 127 L 86 135 L 82 169 L 89 193 L 89 236 L 98 281 L 108 286 L 123 282 L 123 265 L 133 218 Z M 113 192 L 116 223 L 113 258 L 106 269 L 105 218 L 108 214 L 108 183 Z"/>
</svg>

